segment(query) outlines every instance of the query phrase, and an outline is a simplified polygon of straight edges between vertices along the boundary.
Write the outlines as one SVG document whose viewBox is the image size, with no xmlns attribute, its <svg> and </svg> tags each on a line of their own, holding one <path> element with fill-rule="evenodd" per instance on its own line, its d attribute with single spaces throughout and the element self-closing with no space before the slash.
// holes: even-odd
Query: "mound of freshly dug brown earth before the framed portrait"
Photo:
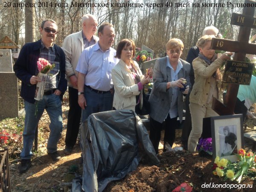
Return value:
<svg viewBox="0 0 256 192">
<path fill-rule="evenodd" d="M 177 154 L 165 152 L 159 155 L 160 164 L 146 166 L 140 164 L 136 171 L 131 172 L 124 179 L 108 184 L 104 192 L 171 192 L 181 183 L 193 186 L 194 192 L 241 192 L 236 188 L 202 188 L 206 184 L 234 184 L 230 180 L 223 180 L 212 175 L 212 160 L 200 157 L 198 153 L 189 154 L 179 151 Z M 256 181 L 250 178 L 242 180 L 243 191 L 254 192 Z M 203 186 L 204 187 L 204 186 Z"/>
</svg>

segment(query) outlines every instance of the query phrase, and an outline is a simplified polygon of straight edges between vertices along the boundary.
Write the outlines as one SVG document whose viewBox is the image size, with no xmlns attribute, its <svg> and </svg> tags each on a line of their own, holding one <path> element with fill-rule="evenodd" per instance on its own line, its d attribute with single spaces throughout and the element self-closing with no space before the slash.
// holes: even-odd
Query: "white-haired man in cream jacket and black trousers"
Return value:
<svg viewBox="0 0 256 192">
<path fill-rule="evenodd" d="M 79 132 L 81 108 L 78 105 L 78 90 L 76 66 L 83 49 L 96 44 L 99 38 L 95 36 L 98 21 L 94 15 L 82 17 L 82 30 L 68 35 L 63 41 L 62 49 L 66 55 L 66 76 L 69 93 L 69 111 L 67 116 L 67 133 L 64 154 L 71 154 Z"/>
</svg>

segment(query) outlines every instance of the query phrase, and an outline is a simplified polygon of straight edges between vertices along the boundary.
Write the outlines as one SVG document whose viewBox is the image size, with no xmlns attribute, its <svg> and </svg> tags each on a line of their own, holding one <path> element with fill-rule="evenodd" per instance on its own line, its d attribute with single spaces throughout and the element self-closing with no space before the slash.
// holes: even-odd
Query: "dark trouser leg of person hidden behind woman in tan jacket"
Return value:
<svg viewBox="0 0 256 192">
<path fill-rule="evenodd" d="M 181 141 L 183 143 L 183 147 L 186 148 L 187 150 L 187 145 L 188 145 L 188 140 L 189 140 L 189 134 L 192 129 L 192 122 L 191 122 L 191 113 L 189 109 L 189 96 L 190 93 L 186 95 L 186 115 L 185 115 L 185 122 L 184 122 L 184 127 L 182 129 L 182 134 L 181 134 Z"/>
</svg>

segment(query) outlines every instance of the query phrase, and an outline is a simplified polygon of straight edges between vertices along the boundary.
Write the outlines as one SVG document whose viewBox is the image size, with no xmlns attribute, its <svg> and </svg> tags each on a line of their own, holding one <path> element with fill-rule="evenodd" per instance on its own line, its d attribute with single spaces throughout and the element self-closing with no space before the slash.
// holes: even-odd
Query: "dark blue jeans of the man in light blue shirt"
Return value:
<svg viewBox="0 0 256 192">
<path fill-rule="evenodd" d="M 87 107 L 82 110 L 82 122 L 87 120 L 92 113 L 111 111 L 113 108 L 113 95 L 110 92 L 96 93 L 84 86 L 84 98 L 86 99 Z"/>
</svg>

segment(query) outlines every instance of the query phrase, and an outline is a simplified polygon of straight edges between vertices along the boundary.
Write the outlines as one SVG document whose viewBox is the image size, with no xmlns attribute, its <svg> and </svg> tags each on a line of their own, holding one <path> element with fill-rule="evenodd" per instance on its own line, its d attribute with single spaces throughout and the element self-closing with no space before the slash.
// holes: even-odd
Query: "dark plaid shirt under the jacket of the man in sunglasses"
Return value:
<svg viewBox="0 0 256 192">
<path fill-rule="evenodd" d="M 55 65 L 55 67 L 48 72 L 44 91 L 56 89 L 59 81 L 60 63 L 59 58 L 56 57 L 55 54 L 54 44 L 48 49 L 41 41 L 40 58 L 44 58 L 49 61 L 50 64 Z"/>
</svg>

